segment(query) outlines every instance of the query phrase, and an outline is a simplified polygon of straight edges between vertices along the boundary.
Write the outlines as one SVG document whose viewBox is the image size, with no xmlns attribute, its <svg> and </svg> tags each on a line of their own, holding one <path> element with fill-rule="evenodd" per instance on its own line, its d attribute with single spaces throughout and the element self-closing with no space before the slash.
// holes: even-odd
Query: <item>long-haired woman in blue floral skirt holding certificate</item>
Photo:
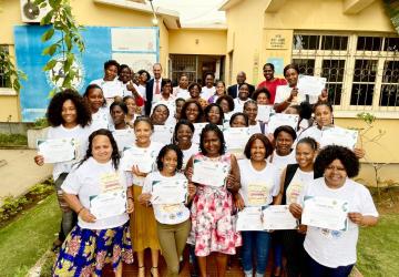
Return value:
<svg viewBox="0 0 399 277">
<path fill-rule="evenodd" d="M 101 276 L 111 263 L 122 277 L 122 261 L 133 263 L 127 213 L 133 212 L 131 184 L 120 171 L 120 154 L 110 131 L 89 137 L 89 150 L 61 188 L 78 225 L 58 255 L 53 276 Z"/>
</svg>

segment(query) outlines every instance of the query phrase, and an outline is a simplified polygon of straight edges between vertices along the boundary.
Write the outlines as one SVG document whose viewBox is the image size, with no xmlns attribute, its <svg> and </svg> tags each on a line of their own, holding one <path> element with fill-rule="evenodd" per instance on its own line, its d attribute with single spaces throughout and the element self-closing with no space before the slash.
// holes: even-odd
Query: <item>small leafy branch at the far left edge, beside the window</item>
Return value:
<svg viewBox="0 0 399 277">
<path fill-rule="evenodd" d="M 27 74 L 16 68 L 6 48 L 0 48 L 0 72 L 4 80 L 9 80 L 11 89 L 17 92 L 21 89 L 20 80 L 28 80 Z"/>
</svg>

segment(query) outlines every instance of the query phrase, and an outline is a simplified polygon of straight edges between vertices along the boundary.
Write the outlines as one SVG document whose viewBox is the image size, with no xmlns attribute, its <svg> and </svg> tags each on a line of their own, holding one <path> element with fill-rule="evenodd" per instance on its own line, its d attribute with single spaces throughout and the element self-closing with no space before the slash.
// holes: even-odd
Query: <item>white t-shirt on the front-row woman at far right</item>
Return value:
<svg viewBox="0 0 399 277">
<path fill-rule="evenodd" d="M 305 196 L 323 196 L 347 201 L 348 211 L 361 213 L 364 216 L 376 216 L 378 212 L 370 192 L 361 184 L 347 179 L 344 186 L 332 189 L 326 185 L 325 178 L 317 178 L 308 184 L 299 196 L 300 203 Z M 359 226 L 348 219 L 348 230 L 329 230 L 308 226 L 304 247 L 317 263 L 336 268 L 356 263 L 356 245 Z"/>
</svg>

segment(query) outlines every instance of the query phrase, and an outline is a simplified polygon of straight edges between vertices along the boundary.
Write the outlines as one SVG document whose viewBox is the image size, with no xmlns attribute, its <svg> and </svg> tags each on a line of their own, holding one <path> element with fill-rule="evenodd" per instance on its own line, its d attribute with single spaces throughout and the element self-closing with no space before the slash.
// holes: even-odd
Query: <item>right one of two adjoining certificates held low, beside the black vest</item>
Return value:
<svg viewBox="0 0 399 277">
<path fill-rule="evenodd" d="M 288 205 L 270 205 L 263 211 L 265 229 L 296 229 L 297 219 L 289 213 Z"/>
</svg>

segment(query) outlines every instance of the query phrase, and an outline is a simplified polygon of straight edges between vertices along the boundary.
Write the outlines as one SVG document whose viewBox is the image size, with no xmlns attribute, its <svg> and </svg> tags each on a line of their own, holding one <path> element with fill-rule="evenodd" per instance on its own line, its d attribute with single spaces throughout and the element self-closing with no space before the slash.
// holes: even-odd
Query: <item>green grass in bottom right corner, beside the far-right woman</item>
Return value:
<svg viewBox="0 0 399 277">
<path fill-rule="evenodd" d="M 398 276 L 399 214 L 381 215 L 376 227 L 361 228 L 357 267 L 365 276 Z"/>
</svg>

